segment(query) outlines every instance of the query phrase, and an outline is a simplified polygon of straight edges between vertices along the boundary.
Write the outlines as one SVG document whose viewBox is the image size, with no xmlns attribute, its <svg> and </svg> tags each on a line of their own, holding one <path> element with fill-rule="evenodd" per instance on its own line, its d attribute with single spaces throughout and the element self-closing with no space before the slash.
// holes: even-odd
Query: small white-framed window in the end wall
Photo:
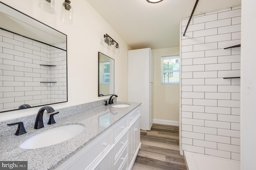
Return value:
<svg viewBox="0 0 256 170">
<path fill-rule="evenodd" d="M 161 57 L 161 83 L 178 84 L 180 82 L 179 55 Z"/>
</svg>

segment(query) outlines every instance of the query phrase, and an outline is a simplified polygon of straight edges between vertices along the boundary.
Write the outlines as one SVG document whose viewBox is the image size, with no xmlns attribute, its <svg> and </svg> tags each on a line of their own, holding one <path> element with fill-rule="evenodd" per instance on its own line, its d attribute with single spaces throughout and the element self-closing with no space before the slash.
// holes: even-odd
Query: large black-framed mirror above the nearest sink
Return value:
<svg viewBox="0 0 256 170">
<path fill-rule="evenodd" d="M 0 21 L 0 112 L 67 102 L 67 36 L 2 2 Z"/>
</svg>

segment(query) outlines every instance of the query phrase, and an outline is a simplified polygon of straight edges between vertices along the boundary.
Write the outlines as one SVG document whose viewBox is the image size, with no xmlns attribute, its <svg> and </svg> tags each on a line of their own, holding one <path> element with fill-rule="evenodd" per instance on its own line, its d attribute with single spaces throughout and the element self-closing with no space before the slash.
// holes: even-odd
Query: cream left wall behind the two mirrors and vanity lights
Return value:
<svg viewBox="0 0 256 170">
<path fill-rule="evenodd" d="M 128 45 L 114 32 L 86 0 L 73 0 L 73 24 L 60 21 L 60 6 L 63 0 L 55 0 L 55 12 L 48 13 L 38 7 L 37 0 L 2 2 L 28 14 L 44 24 L 68 36 L 68 102 L 54 104 L 54 109 L 88 103 L 108 97 L 98 97 L 98 51 L 115 59 L 115 91 L 118 101 L 127 101 L 127 55 Z M 114 55 L 104 47 L 103 35 L 109 34 L 119 43 L 120 53 Z M 36 114 L 38 108 L 0 114 L 0 121 Z"/>
</svg>

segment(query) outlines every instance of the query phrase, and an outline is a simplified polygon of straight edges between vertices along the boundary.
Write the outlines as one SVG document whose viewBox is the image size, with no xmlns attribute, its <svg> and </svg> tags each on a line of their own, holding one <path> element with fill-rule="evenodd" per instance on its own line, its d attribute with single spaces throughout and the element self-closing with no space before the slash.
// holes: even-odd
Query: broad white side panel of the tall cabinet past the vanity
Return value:
<svg viewBox="0 0 256 170">
<path fill-rule="evenodd" d="M 150 130 L 150 48 L 128 51 L 128 102 L 142 103 L 140 128 Z"/>
</svg>

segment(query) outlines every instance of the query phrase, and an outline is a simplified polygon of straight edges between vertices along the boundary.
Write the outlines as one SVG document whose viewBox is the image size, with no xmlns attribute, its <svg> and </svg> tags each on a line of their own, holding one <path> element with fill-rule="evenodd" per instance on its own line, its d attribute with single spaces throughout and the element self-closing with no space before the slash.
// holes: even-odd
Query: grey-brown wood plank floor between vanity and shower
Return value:
<svg viewBox="0 0 256 170">
<path fill-rule="evenodd" d="M 153 124 L 140 130 L 141 149 L 132 170 L 187 170 L 179 151 L 179 127 Z"/>
</svg>

